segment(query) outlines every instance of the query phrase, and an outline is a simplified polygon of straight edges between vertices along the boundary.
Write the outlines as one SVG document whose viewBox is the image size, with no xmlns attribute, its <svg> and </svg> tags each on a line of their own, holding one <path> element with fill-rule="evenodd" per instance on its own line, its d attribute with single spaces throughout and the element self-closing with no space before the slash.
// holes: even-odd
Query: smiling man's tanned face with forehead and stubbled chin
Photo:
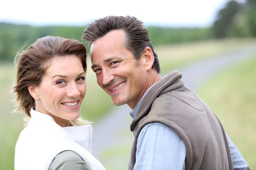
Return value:
<svg viewBox="0 0 256 170">
<path fill-rule="evenodd" d="M 135 59 L 125 48 L 125 32 L 114 30 L 92 43 L 92 69 L 98 85 L 114 105 L 134 108 L 145 92 L 147 76 L 142 59 Z"/>
</svg>

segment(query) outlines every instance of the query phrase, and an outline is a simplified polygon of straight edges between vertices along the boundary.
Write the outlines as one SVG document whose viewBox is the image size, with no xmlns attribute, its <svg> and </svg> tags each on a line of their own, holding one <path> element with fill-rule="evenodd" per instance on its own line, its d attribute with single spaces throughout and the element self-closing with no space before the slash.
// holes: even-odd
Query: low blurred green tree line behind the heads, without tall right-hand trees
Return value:
<svg viewBox="0 0 256 170">
<path fill-rule="evenodd" d="M 17 51 L 25 42 L 29 45 L 36 39 L 47 35 L 74 38 L 81 41 L 84 27 L 75 26 L 44 26 L 32 27 L 27 25 L 15 25 L 0 23 L 0 61 L 13 61 Z M 210 28 L 163 28 L 148 27 L 148 33 L 153 45 L 164 45 L 178 42 L 191 42 L 207 40 L 211 38 Z M 90 45 L 84 42 L 87 52 L 90 52 Z"/>
</svg>

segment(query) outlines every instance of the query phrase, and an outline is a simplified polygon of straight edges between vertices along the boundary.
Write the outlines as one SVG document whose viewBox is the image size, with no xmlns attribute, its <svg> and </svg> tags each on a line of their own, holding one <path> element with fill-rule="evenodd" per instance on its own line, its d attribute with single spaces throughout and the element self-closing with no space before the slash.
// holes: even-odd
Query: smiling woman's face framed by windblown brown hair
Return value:
<svg viewBox="0 0 256 170">
<path fill-rule="evenodd" d="M 52 116 L 60 124 L 80 116 L 86 93 L 85 73 L 76 55 L 55 57 L 48 62 L 41 84 L 35 87 L 36 111 Z"/>
</svg>

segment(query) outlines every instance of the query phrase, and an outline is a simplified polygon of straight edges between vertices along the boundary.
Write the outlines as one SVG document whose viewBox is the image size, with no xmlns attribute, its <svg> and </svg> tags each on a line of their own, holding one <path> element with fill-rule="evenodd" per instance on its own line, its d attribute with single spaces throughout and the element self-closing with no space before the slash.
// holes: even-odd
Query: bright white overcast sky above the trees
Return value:
<svg viewBox="0 0 256 170">
<path fill-rule="evenodd" d="M 0 22 L 85 26 L 108 15 L 130 15 L 145 25 L 205 27 L 228 0 L 3 0 Z M 242 1 L 242 0 L 239 0 Z"/>
</svg>

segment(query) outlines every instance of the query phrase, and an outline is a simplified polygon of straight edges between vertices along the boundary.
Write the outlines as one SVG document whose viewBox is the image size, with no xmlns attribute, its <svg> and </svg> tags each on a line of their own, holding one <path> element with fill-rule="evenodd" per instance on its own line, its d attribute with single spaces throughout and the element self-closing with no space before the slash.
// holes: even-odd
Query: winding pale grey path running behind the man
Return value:
<svg viewBox="0 0 256 170">
<path fill-rule="evenodd" d="M 212 75 L 218 74 L 221 69 L 248 59 L 254 54 L 256 54 L 256 45 L 250 45 L 218 56 L 209 57 L 192 65 L 186 65 L 181 69 L 175 69 L 183 74 L 182 80 L 184 84 L 192 91 L 196 91 L 202 83 Z M 124 142 L 132 143 L 130 112 L 131 108 L 128 105 L 118 106 L 110 113 L 105 114 L 105 117 L 100 121 L 93 124 L 92 149 L 96 154 Z"/>
</svg>

